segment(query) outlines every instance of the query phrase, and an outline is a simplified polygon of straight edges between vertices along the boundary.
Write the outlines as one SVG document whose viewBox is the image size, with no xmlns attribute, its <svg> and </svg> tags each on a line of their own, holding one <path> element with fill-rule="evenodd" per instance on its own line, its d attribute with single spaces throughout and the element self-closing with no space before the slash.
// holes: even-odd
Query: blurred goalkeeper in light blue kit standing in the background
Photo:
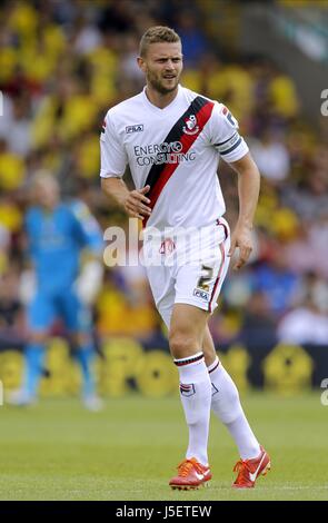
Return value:
<svg viewBox="0 0 328 523">
<path fill-rule="evenodd" d="M 92 374 L 91 305 L 102 280 L 102 234 L 85 203 L 60 201 L 58 181 L 48 172 L 34 175 L 32 200 L 26 216 L 32 277 L 27 273 L 21 288 L 29 343 L 22 386 L 10 401 L 17 405 L 36 401 L 44 373 L 46 344 L 54 320 L 61 319 L 81 368 L 85 406 L 98 411 L 101 401 Z M 80 267 L 82 255 L 87 259 Z"/>
</svg>

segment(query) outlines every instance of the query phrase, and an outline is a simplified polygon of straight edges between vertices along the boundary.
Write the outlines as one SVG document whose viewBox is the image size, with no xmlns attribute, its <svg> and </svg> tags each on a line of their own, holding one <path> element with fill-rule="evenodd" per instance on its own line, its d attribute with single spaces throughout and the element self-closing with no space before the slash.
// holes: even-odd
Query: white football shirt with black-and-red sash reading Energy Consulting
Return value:
<svg viewBox="0 0 328 523">
<path fill-rule="evenodd" d="M 137 189 L 150 185 L 143 225 L 159 230 L 213 224 L 226 211 L 219 157 L 230 162 L 248 152 L 227 107 L 181 86 L 165 109 L 146 88 L 109 109 L 100 144 L 101 177 L 122 177 L 129 165 Z"/>
</svg>

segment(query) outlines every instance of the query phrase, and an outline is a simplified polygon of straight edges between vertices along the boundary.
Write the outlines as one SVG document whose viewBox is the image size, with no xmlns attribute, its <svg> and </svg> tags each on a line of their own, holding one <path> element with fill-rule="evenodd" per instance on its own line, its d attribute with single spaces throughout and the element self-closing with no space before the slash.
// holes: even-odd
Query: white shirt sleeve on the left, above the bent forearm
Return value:
<svg viewBox="0 0 328 523">
<path fill-rule="evenodd" d="M 109 115 L 103 120 L 100 134 L 101 178 L 121 178 L 125 174 L 128 158 L 118 132 Z"/>
</svg>

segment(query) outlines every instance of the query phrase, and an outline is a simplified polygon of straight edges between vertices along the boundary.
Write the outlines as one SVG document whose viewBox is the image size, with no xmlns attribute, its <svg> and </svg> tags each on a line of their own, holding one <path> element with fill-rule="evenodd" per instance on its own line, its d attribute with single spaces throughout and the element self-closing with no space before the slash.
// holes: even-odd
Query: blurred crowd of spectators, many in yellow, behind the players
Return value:
<svg viewBox="0 0 328 523">
<path fill-rule="evenodd" d="M 306 120 L 297 86 L 275 63 L 260 53 L 229 55 L 227 42 L 213 41 L 208 3 L 1 2 L 0 346 L 24 333 L 19 286 L 33 172 L 51 171 L 62 196 L 82 198 L 103 230 L 126 227 L 125 214 L 100 191 L 99 131 L 111 106 L 142 89 L 138 43 L 155 24 L 180 34 L 181 82 L 229 107 L 262 175 L 256 248 L 251 263 L 225 284 L 210 320 L 216 343 L 328 345 L 327 127 Z M 223 162 L 220 181 L 233 227 L 237 177 Z M 100 337 L 165 345 L 142 267 L 106 270 L 95 325 Z"/>
</svg>

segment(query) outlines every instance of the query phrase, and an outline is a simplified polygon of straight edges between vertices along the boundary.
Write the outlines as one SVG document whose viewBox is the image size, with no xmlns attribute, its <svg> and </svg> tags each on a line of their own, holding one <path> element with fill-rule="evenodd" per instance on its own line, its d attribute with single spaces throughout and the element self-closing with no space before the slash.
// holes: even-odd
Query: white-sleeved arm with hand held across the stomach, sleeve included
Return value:
<svg viewBox="0 0 328 523">
<path fill-rule="evenodd" d="M 122 180 L 128 156 L 110 114 L 107 114 L 103 121 L 100 135 L 100 176 L 103 193 L 118 201 L 132 218 L 145 219 L 151 213 L 151 208 L 148 207 L 150 200 L 145 196 L 150 187 L 146 186 L 142 189 L 129 190 Z"/>
</svg>

